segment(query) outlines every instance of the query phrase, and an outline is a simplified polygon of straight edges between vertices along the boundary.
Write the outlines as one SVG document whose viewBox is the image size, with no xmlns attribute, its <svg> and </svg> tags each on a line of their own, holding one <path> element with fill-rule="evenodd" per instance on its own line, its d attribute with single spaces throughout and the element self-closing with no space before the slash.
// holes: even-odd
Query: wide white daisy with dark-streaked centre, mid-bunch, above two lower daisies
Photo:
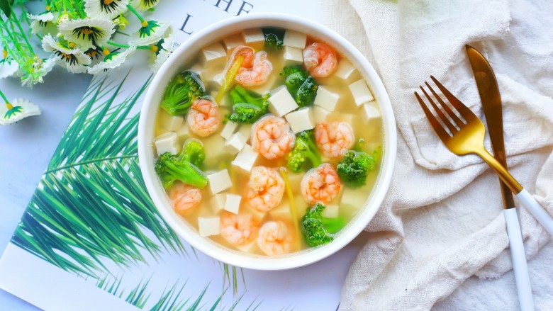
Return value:
<svg viewBox="0 0 553 311">
<path fill-rule="evenodd" d="M 57 29 L 65 40 L 88 48 L 106 44 L 115 32 L 115 24 L 108 18 L 79 18 L 60 22 Z"/>
</svg>

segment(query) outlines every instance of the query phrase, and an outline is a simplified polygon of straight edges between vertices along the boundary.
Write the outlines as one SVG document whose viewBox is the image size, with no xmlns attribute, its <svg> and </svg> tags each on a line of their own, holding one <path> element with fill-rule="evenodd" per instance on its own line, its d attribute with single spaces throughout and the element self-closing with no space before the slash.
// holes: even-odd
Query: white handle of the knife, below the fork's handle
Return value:
<svg viewBox="0 0 553 311">
<path fill-rule="evenodd" d="M 515 208 L 508 208 L 503 210 L 503 215 L 505 215 L 505 223 L 507 224 L 510 256 L 513 259 L 513 271 L 515 272 L 520 310 L 533 311 L 534 300 L 532 298 L 532 286 L 530 285 L 530 276 L 528 275 L 528 265 L 526 263 L 526 254 L 523 244 L 523 234 L 520 232 L 517 211 Z"/>
</svg>

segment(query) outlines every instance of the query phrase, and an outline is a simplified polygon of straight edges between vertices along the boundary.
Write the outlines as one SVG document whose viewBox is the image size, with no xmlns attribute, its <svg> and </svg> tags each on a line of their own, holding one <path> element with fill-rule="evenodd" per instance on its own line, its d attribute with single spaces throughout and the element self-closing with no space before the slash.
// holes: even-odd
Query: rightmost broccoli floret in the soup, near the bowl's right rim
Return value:
<svg viewBox="0 0 553 311">
<path fill-rule="evenodd" d="M 376 159 L 367 152 L 350 150 L 344 154 L 336 170 L 340 179 L 348 186 L 357 188 L 363 186 L 369 171 L 374 170 Z"/>
</svg>

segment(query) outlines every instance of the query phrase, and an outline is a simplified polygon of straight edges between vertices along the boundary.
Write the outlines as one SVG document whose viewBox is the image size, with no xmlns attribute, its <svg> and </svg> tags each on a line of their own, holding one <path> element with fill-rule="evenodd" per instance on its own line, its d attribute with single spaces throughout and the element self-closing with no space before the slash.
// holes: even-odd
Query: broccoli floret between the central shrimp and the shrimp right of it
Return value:
<svg viewBox="0 0 553 311">
<path fill-rule="evenodd" d="M 299 132 L 296 135 L 296 145 L 288 155 L 287 166 L 291 171 L 298 172 L 305 165 L 306 169 L 321 164 L 320 155 L 313 141 L 313 130 Z"/>
</svg>

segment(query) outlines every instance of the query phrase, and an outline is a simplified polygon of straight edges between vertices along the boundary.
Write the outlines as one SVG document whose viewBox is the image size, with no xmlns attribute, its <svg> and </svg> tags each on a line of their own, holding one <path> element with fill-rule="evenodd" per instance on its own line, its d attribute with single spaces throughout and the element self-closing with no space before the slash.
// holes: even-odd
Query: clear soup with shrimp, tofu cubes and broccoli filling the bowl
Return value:
<svg viewBox="0 0 553 311">
<path fill-rule="evenodd" d="M 279 256 L 333 242 L 382 155 L 378 105 L 318 38 L 252 28 L 203 47 L 165 90 L 155 169 L 202 237 Z"/>
</svg>

